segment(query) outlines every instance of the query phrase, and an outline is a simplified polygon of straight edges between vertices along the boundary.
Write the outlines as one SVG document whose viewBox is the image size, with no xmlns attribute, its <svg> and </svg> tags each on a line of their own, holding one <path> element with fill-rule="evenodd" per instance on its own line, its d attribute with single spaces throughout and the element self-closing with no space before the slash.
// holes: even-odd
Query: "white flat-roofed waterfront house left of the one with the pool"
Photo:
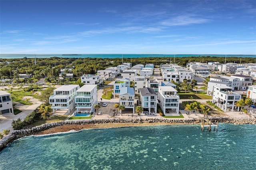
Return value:
<svg viewBox="0 0 256 170">
<path fill-rule="evenodd" d="M 53 91 L 49 97 L 49 103 L 54 111 L 58 109 L 68 109 L 68 113 L 75 108 L 75 94 L 79 85 L 63 85 Z"/>
</svg>

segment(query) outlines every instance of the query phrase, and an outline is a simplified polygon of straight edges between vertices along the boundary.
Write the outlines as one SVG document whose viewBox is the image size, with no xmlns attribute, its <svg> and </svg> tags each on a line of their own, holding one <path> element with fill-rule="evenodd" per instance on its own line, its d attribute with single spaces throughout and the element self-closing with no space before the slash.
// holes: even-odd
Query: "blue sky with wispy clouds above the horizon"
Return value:
<svg viewBox="0 0 256 170">
<path fill-rule="evenodd" d="M 256 54 L 256 0 L 0 0 L 0 53 Z"/>
</svg>

